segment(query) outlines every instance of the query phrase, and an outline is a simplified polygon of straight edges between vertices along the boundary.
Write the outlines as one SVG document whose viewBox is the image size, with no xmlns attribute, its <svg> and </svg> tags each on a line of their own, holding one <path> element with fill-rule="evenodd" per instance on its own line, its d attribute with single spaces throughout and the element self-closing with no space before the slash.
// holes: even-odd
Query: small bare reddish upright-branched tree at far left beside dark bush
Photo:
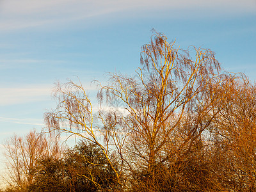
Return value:
<svg viewBox="0 0 256 192">
<path fill-rule="evenodd" d="M 31 131 L 22 138 L 17 135 L 9 138 L 4 144 L 6 157 L 6 177 L 4 180 L 10 188 L 26 191 L 35 177 L 35 167 L 39 159 L 44 157 L 59 157 L 61 147 L 58 138 L 51 134 Z"/>
</svg>

